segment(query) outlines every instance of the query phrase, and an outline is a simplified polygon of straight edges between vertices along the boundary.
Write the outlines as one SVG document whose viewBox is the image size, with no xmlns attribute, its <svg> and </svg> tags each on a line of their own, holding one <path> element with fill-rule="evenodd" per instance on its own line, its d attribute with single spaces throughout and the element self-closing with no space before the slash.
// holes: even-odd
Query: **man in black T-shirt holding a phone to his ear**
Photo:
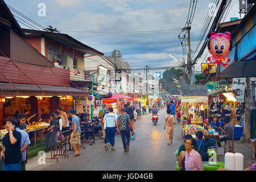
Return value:
<svg viewBox="0 0 256 182">
<path fill-rule="evenodd" d="M 22 135 L 15 128 L 18 125 L 14 118 L 7 119 L 6 130 L 9 131 L 3 138 L 3 150 L 0 159 L 4 160 L 3 171 L 22 171 L 22 153 L 20 142 Z"/>
</svg>

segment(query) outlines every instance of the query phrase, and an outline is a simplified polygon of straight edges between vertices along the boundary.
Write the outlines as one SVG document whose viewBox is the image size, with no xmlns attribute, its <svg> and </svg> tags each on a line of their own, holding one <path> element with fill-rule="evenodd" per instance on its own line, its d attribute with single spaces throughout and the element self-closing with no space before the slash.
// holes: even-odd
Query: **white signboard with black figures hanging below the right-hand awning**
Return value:
<svg viewBox="0 0 256 182">
<path fill-rule="evenodd" d="M 246 78 L 233 78 L 232 89 L 235 90 L 237 102 L 243 102 L 245 96 Z"/>
</svg>

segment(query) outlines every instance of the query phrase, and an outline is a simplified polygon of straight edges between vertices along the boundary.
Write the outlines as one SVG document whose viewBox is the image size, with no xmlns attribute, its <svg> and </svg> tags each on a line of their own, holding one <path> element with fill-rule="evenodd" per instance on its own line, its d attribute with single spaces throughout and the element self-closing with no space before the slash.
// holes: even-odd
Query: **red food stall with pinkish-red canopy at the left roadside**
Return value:
<svg viewBox="0 0 256 182">
<path fill-rule="evenodd" d="M 115 114 L 121 113 L 121 108 L 130 101 L 130 105 L 134 105 L 134 98 L 124 96 L 122 94 L 113 94 L 112 96 L 105 97 L 102 99 L 103 104 L 106 104 L 106 107 L 113 107 Z"/>
</svg>

